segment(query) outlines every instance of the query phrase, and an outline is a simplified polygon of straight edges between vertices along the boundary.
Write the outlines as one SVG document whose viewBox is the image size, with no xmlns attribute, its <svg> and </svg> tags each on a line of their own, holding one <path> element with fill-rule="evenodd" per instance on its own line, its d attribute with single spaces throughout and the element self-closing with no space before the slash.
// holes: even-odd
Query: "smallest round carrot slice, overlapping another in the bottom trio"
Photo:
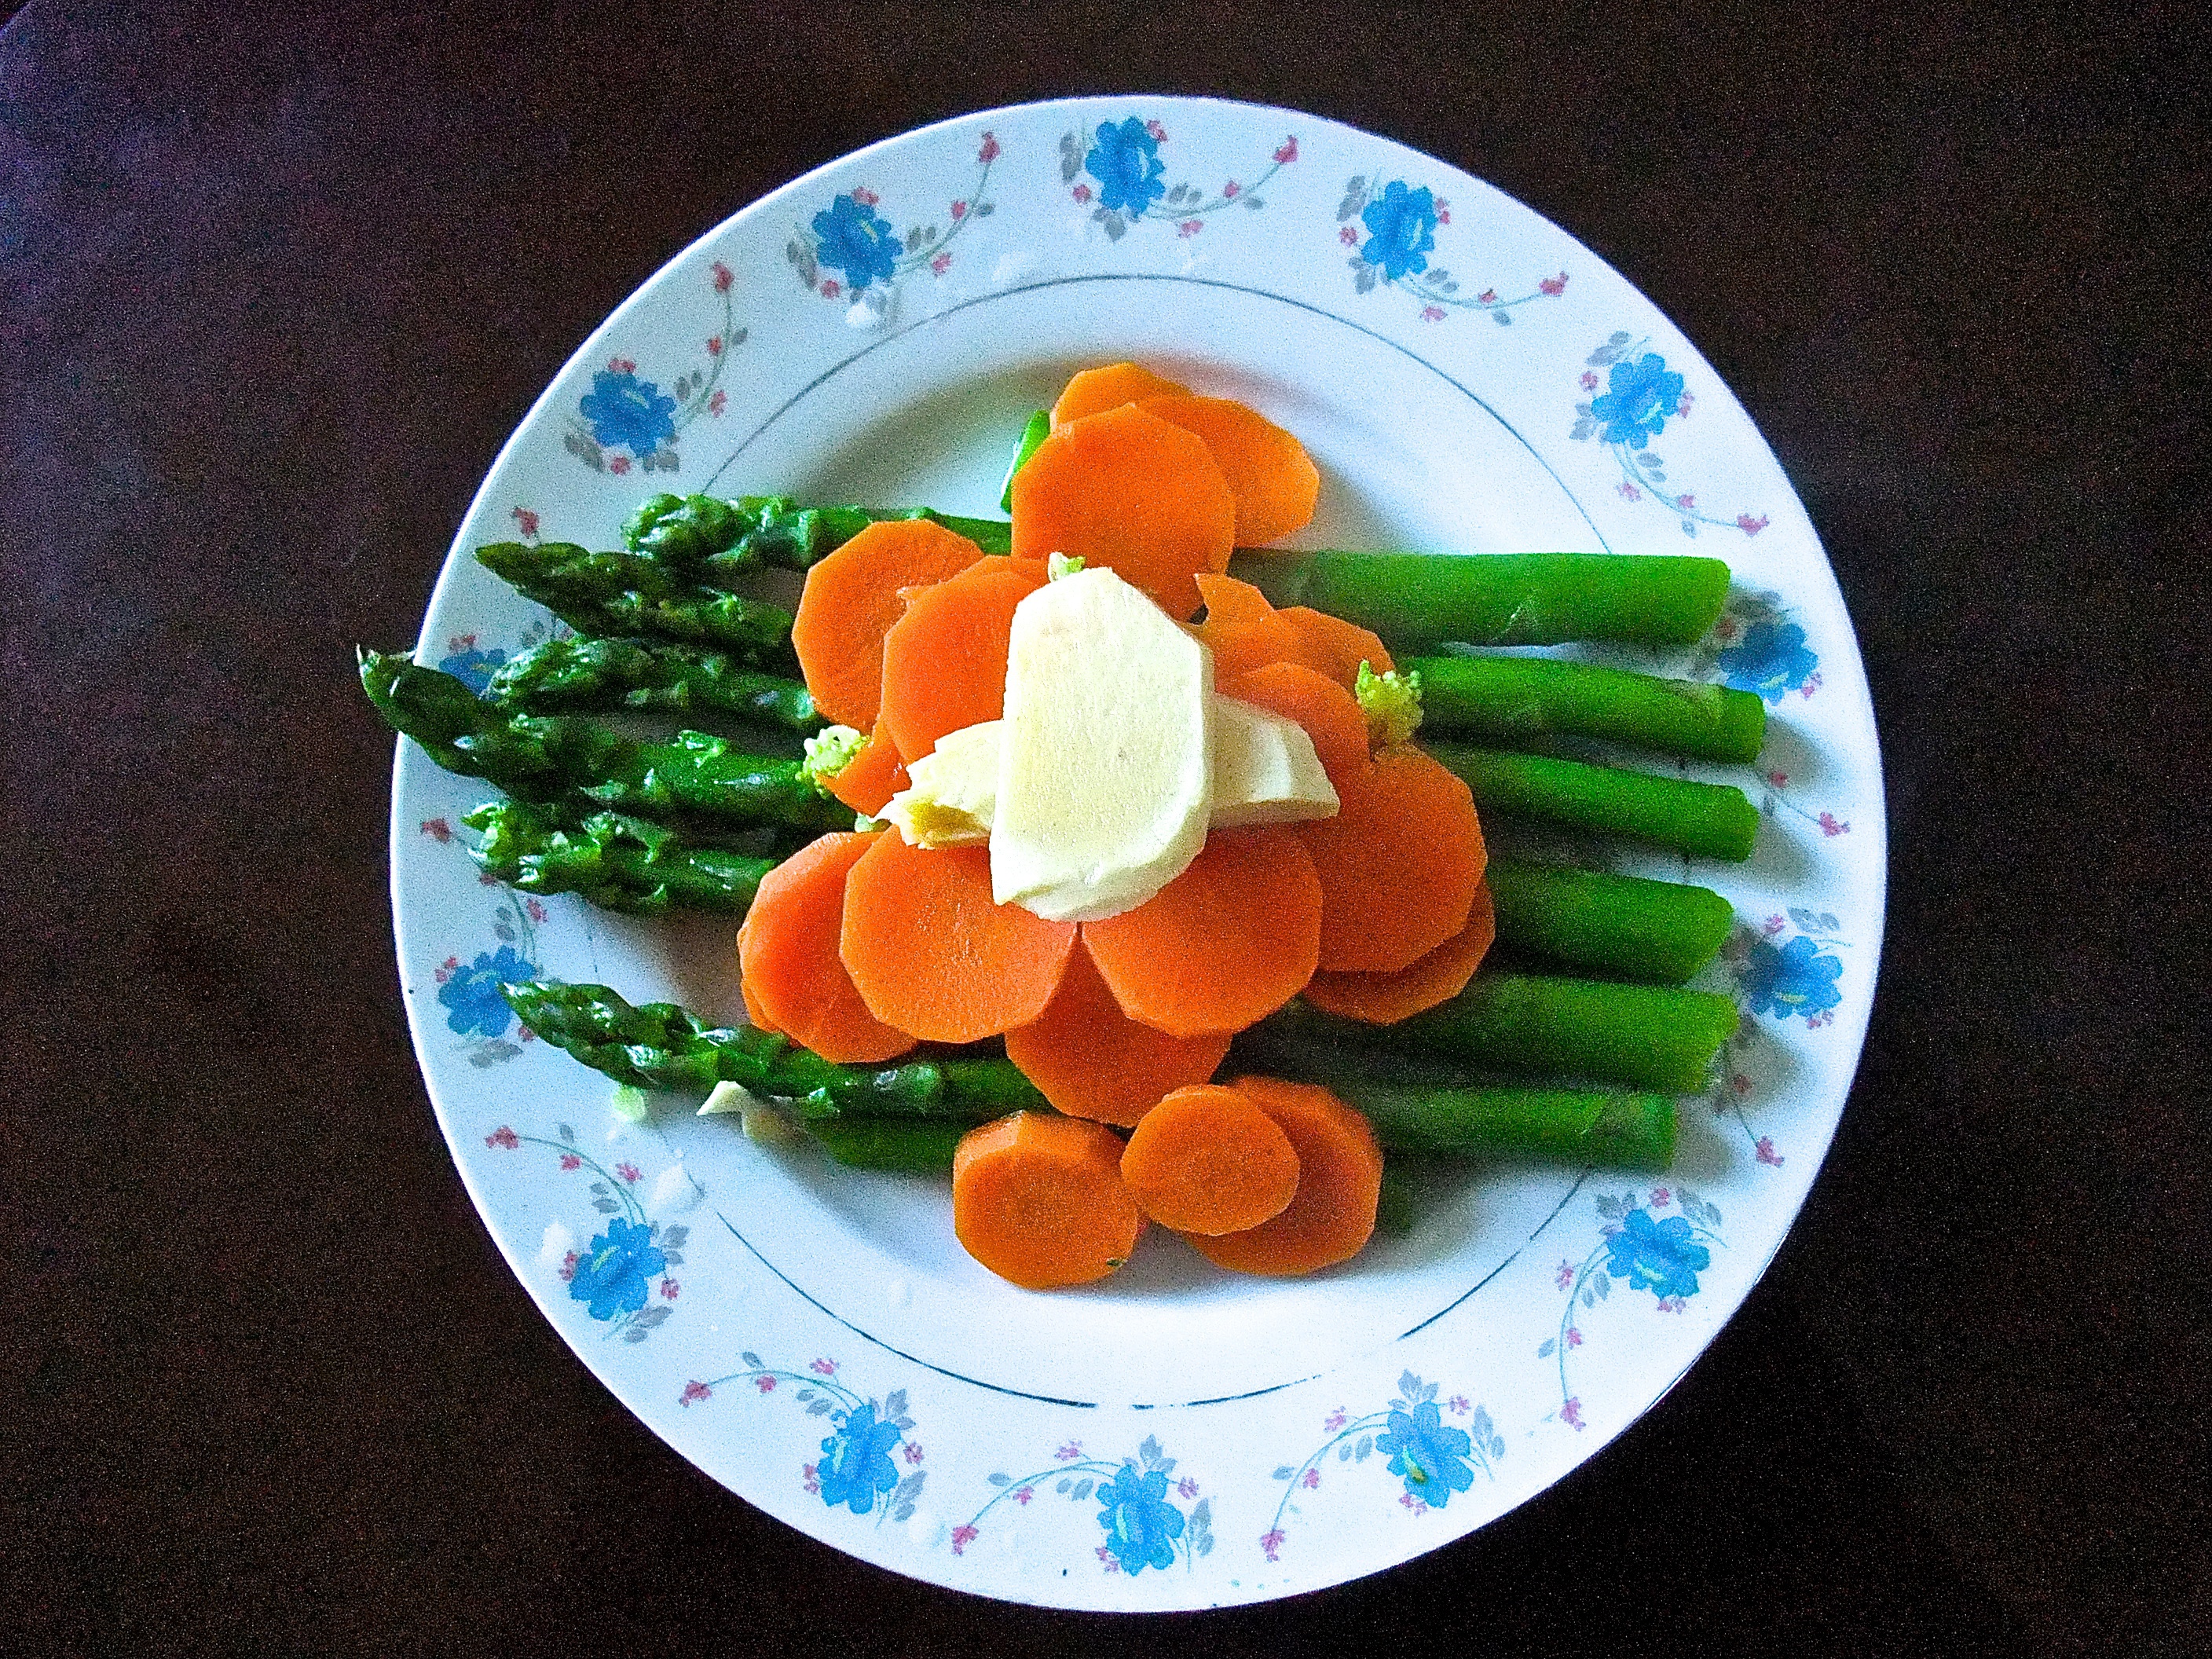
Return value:
<svg viewBox="0 0 2212 1659">
<path fill-rule="evenodd" d="M 1283 1214 L 1298 1155 L 1267 1113 L 1234 1088 L 1177 1088 L 1121 1150 L 1121 1186 L 1177 1232 L 1245 1232 Z"/>
</svg>

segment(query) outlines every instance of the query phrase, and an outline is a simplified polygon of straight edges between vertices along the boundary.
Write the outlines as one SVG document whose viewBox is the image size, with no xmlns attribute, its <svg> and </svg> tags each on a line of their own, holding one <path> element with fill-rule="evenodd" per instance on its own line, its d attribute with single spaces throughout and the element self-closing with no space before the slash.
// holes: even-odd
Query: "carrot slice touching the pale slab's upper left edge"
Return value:
<svg viewBox="0 0 2212 1659">
<path fill-rule="evenodd" d="M 907 761 L 962 726 L 1006 712 L 1013 608 L 1044 586 L 1011 560 L 984 560 L 918 591 L 883 637 L 883 723 Z"/>
</svg>

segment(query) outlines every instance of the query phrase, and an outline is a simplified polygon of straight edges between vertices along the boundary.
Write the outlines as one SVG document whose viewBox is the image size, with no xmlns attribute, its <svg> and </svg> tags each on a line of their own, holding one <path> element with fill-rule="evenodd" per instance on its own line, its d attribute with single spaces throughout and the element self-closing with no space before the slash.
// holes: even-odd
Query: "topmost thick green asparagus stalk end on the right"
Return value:
<svg viewBox="0 0 2212 1659">
<path fill-rule="evenodd" d="M 1276 577 L 1290 595 L 1279 604 L 1310 604 L 1409 653 L 1447 641 L 1688 646 L 1705 635 L 1728 597 L 1721 560 L 1683 555 L 1314 553 Z"/>
</svg>

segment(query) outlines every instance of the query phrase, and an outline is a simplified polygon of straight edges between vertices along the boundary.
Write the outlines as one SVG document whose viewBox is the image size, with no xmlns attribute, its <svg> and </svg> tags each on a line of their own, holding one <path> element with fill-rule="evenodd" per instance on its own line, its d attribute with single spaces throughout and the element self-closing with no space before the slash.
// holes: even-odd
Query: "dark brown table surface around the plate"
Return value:
<svg viewBox="0 0 2212 1659">
<path fill-rule="evenodd" d="M 1537 13 L 13 18 L 7 1646 L 2203 1650 L 2201 40 L 2159 4 Z M 414 1068 L 352 679 L 677 248 L 858 144 L 1091 91 L 1387 133 L 1674 316 L 1827 542 L 1893 845 L 1827 1170 L 1681 1387 L 1394 1573 L 1117 1621 L 765 1520 L 540 1321 Z"/>
</svg>

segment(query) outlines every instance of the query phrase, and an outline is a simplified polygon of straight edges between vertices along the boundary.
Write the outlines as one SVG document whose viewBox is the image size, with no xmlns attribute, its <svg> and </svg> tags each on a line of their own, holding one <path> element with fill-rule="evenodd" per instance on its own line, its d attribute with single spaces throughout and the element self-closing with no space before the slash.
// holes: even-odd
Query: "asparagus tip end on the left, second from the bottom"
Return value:
<svg viewBox="0 0 2212 1659">
<path fill-rule="evenodd" d="M 484 836 L 476 863 L 524 894 L 582 894 L 602 909 L 743 916 L 774 858 L 708 847 L 657 823 L 595 812 L 573 821 L 526 801 L 487 801 L 462 823 Z"/>
</svg>

